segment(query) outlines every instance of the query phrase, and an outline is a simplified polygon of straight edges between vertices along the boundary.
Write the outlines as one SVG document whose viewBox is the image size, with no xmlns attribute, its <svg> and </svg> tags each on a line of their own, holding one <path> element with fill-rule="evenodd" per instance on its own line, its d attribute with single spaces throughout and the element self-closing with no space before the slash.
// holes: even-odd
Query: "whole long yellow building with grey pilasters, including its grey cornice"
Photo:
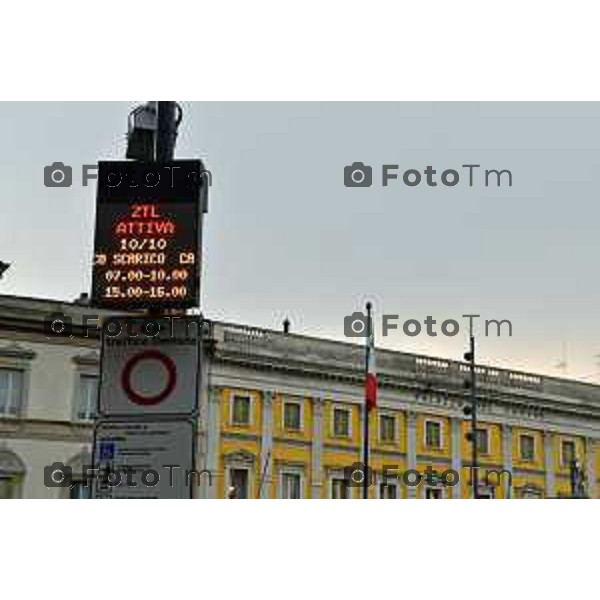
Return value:
<svg viewBox="0 0 600 600">
<path fill-rule="evenodd" d="M 362 497 L 348 477 L 362 464 L 363 356 L 356 344 L 214 324 L 204 497 Z M 369 496 L 472 497 L 468 367 L 377 358 Z M 480 497 L 597 496 L 598 386 L 478 367 L 477 390 Z"/>
</svg>

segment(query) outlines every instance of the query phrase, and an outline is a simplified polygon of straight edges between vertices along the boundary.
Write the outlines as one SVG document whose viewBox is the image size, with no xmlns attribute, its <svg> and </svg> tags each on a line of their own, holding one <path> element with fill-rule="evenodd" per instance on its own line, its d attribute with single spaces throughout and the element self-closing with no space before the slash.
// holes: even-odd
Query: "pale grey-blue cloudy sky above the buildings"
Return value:
<svg viewBox="0 0 600 600">
<path fill-rule="evenodd" d="M 73 300 L 89 292 L 95 186 L 81 165 L 125 156 L 136 102 L 0 104 L 0 293 Z M 461 359 L 463 314 L 478 360 L 600 382 L 598 103 L 182 102 L 176 158 L 213 176 L 205 218 L 208 318 L 344 337 L 344 317 L 375 310 L 378 346 Z M 46 188 L 44 166 L 73 167 Z M 372 166 L 348 188 L 344 167 Z M 382 165 L 398 165 L 382 185 Z M 464 164 L 479 164 L 469 186 Z M 431 166 L 437 186 L 426 183 Z M 403 183 L 408 169 L 418 186 Z M 445 186 L 440 174 L 460 180 Z M 509 169 L 500 187 L 485 169 Z M 383 337 L 381 315 L 398 315 Z M 410 337 L 409 319 L 438 335 Z M 444 336 L 445 319 L 459 322 Z M 497 337 L 484 319 L 508 319 Z M 559 363 L 566 363 L 562 366 Z"/>
</svg>

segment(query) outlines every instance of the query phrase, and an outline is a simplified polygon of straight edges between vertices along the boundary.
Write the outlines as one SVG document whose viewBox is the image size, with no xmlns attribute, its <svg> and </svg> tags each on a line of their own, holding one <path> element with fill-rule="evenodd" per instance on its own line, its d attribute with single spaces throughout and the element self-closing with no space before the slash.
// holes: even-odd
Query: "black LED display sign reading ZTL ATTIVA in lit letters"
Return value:
<svg viewBox="0 0 600 600">
<path fill-rule="evenodd" d="M 199 160 L 99 163 L 94 306 L 198 306 L 205 173 Z"/>
</svg>

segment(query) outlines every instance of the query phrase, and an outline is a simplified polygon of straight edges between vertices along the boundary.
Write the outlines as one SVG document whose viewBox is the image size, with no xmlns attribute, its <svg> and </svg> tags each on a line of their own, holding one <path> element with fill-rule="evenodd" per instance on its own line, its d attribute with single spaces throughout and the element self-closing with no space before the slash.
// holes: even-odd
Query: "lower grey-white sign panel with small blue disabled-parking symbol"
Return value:
<svg viewBox="0 0 600 600">
<path fill-rule="evenodd" d="M 199 483 L 193 440 L 192 421 L 99 422 L 92 498 L 189 499 Z"/>
</svg>

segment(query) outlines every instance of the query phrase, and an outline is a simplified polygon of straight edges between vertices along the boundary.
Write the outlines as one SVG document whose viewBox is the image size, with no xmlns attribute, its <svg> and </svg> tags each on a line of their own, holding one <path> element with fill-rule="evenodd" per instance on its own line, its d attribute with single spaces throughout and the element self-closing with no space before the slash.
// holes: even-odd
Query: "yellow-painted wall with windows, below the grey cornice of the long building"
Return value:
<svg viewBox="0 0 600 600">
<path fill-rule="evenodd" d="M 240 388 L 222 388 L 216 392 L 219 403 L 220 426 L 217 468 L 211 470 L 213 490 L 208 497 L 225 498 L 232 487 L 238 486 L 235 497 L 243 498 L 362 498 L 362 488 L 356 484 L 341 489 L 339 480 L 347 481 L 345 470 L 356 463 L 362 464 L 361 407 L 327 398 L 290 397 L 282 394 Z M 233 420 L 235 402 L 251 398 L 252 419 L 248 423 Z M 265 404 L 271 404 L 273 437 L 268 453 L 264 451 L 262 415 Z M 300 406 L 299 426 L 285 425 L 284 406 Z M 349 413 L 347 434 L 334 431 L 334 411 Z M 316 419 L 321 426 L 315 427 Z M 458 417 L 460 418 L 460 417 Z M 339 419 L 339 417 L 338 417 Z M 389 435 L 387 424 L 393 423 Z M 453 427 L 452 418 L 431 412 L 411 412 L 391 407 L 371 412 L 370 463 L 373 470 L 370 498 L 470 498 L 473 495 L 470 472 L 470 443 L 466 433 L 470 426 L 460 423 Z M 563 434 L 545 429 L 510 427 L 481 420 L 480 431 L 487 440 L 480 446 L 480 495 L 491 498 L 544 498 L 572 496 L 570 457 L 587 463 L 588 494 L 595 494 L 594 478 L 600 468 L 596 458 L 593 468 L 589 456 L 595 456 L 596 443 L 591 438 L 573 433 Z M 439 428 L 438 439 L 428 439 L 426 433 Z M 414 428 L 416 451 L 409 458 L 411 435 Z M 317 450 L 315 429 L 322 431 Z M 430 433 L 431 435 L 431 433 Z M 529 439 L 533 440 L 533 454 Z M 460 463 L 453 460 L 453 448 L 461 447 Z M 504 449 L 510 448 L 512 461 L 506 460 Z M 526 446 L 523 448 L 522 446 Z M 574 455 L 571 452 L 574 449 Z M 315 463 L 315 454 L 319 460 Z M 263 457 L 260 460 L 260 457 Z M 205 465 L 208 467 L 208 465 Z M 431 481 L 427 469 L 433 470 Z M 420 475 L 411 475 L 405 481 L 402 474 L 408 469 Z M 504 472 L 503 472 L 504 470 Z M 246 471 L 240 479 L 239 471 Z M 458 482 L 453 472 L 460 475 Z M 386 476 L 384 476 L 384 473 Z M 445 476 L 443 474 L 445 473 Z M 550 487 L 549 481 L 552 482 Z M 486 482 L 488 485 L 485 485 Z M 430 485 L 429 483 L 432 483 Z M 388 488 L 393 488 L 389 490 Z M 596 497 L 594 495 L 594 497 Z"/>
</svg>

